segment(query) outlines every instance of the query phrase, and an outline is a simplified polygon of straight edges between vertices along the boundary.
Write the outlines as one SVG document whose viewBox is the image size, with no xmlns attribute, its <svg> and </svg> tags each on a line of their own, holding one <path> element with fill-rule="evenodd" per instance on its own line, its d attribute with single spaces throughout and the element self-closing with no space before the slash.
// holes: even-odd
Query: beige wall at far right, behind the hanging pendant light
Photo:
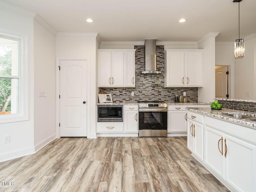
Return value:
<svg viewBox="0 0 256 192">
<path fill-rule="evenodd" d="M 244 38 L 243 58 L 235 59 L 236 99 L 256 100 L 256 34 Z M 250 92 L 250 96 L 246 96 Z"/>
</svg>

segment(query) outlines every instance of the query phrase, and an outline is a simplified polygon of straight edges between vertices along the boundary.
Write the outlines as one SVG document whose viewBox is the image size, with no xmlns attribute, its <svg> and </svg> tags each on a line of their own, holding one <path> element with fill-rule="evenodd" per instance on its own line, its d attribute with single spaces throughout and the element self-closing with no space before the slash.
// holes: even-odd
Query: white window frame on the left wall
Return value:
<svg viewBox="0 0 256 192">
<path fill-rule="evenodd" d="M 0 124 L 28 120 L 28 35 L 10 35 L 0 32 L 0 38 L 18 41 L 18 76 L 0 77 L 18 78 L 18 112 L 0 115 Z"/>
</svg>

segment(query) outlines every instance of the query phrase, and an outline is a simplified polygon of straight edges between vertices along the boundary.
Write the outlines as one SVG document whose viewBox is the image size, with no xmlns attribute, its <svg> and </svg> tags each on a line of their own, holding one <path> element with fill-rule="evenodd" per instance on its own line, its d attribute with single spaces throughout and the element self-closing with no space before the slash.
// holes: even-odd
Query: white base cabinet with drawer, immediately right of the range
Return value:
<svg viewBox="0 0 256 192">
<path fill-rule="evenodd" d="M 168 133 L 186 133 L 186 105 L 168 106 Z"/>
</svg>

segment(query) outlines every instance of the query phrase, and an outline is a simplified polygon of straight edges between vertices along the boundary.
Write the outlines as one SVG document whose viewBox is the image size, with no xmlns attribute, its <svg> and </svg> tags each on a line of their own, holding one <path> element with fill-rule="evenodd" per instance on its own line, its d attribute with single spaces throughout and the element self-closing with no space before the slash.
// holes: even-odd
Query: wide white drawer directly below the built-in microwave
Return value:
<svg viewBox="0 0 256 192">
<path fill-rule="evenodd" d="M 97 133 L 124 132 L 123 122 L 98 122 Z"/>
</svg>

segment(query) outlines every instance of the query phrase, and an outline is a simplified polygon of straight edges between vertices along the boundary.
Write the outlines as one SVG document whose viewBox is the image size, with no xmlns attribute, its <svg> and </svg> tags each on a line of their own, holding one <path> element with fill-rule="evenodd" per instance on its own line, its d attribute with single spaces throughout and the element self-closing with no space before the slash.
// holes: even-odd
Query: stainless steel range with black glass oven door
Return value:
<svg viewBox="0 0 256 192">
<path fill-rule="evenodd" d="M 139 137 L 167 137 L 167 104 L 139 102 Z"/>
</svg>

